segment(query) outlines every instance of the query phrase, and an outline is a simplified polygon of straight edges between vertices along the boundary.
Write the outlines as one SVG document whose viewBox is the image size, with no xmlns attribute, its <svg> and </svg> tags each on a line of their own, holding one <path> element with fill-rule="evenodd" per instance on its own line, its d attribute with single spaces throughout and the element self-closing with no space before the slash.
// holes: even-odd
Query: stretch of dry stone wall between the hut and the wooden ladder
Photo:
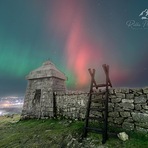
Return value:
<svg viewBox="0 0 148 148">
<path fill-rule="evenodd" d="M 88 93 L 68 92 L 56 95 L 57 114 L 73 119 L 84 119 Z"/>
</svg>

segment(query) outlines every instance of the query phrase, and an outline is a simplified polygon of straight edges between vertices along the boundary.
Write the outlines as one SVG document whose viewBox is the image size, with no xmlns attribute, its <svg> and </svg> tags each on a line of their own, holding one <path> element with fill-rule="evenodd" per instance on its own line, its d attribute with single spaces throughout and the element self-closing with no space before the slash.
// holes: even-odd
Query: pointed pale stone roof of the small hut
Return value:
<svg viewBox="0 0 148 148">
<path fill-rule="evenodd" d="M 46 61 L 42 64 L 41 67 L 31 71 L 26 79 L 39 79 L 39 78 L 47 78 L 47 77 L 56 77 L 62 80 L 67 80 L 65 74 L 59 71 L 55 65 L 50 62 Z"/>
</svg>

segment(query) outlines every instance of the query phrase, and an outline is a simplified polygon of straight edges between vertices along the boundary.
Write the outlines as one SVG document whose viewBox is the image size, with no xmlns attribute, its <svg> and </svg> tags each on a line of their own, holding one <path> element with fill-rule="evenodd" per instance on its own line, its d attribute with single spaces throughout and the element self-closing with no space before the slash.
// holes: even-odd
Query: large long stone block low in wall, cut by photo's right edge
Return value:
<svg viewBox="0 0 148 148">
<path fill-rule="evenodd" d="M 148 122 L 148 114 L 132 112 L 132 118 L 136 122 Z"/>
</svg>

